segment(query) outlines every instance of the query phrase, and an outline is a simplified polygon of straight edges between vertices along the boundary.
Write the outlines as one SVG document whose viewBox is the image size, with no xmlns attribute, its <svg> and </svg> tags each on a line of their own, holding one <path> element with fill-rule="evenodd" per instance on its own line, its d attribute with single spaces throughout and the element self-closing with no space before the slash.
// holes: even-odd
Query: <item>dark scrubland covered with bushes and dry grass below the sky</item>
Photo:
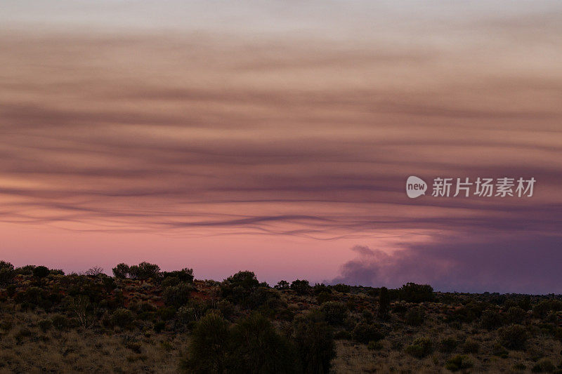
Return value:
<svg viewBox="0 0 562 374">
<path fill-rule="evenodd" d="M 558 295 L 0 262 L 0 373 L 562 373 Z"/>
</svg>

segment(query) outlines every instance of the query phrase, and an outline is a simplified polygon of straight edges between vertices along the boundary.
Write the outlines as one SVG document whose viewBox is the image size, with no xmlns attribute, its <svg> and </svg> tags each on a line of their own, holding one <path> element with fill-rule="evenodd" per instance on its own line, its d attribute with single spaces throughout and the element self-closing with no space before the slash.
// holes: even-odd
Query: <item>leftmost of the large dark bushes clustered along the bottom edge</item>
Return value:
<svg viewBox="0 0 562 374">
<path fill-rule="evenodd" d="M 209 313 L 195 324 L 180 367 L 186 373 L 227 373 L 230 344 L 229 323 L 222 316 Z"/>
</svg>

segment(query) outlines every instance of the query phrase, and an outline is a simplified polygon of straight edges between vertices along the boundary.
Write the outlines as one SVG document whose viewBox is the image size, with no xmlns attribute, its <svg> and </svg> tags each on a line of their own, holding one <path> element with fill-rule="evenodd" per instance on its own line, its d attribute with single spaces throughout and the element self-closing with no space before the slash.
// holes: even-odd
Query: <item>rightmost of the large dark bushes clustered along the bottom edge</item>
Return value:
<svg viewBox="0 0 562 374">
<path fill-rule="evenodd" d="M 311 312 L 295 318 L 292 341 L 304 373 L 329 373 L 336 348 L 332 329 L 322 313 Z"/>
</svg>

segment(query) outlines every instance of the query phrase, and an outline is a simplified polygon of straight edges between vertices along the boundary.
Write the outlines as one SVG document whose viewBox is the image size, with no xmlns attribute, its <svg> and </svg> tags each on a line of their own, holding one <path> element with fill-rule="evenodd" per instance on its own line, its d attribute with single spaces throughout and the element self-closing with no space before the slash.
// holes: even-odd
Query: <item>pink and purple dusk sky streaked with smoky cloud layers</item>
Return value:
<svg viewBox="0 0 562 374">
<path fill-rule="evenodd" d="M 562 293 L 561 45 L 556 1 L 4 0 L 0 258 Z"/>
</svg>

